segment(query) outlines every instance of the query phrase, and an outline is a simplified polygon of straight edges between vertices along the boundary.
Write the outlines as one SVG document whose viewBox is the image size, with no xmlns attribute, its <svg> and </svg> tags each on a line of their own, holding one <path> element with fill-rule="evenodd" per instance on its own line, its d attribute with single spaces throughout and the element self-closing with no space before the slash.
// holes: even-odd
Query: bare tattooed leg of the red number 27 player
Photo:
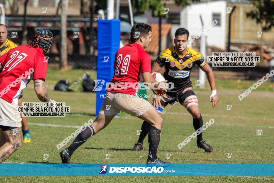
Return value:
<svg viewBox="0 0 274 183">
<path fill-rule="evenodd" d="M 5 144 L 0 147 L 0 163 L 5 161 L 13 152 L 17 151 L 21 145 L 21 127 L 13 128 L 11 130 L 7 130 L 3 132 L 5 135 L 5 139 L 0 139 L 0 141 L 4 141 Z"/>
</svg>

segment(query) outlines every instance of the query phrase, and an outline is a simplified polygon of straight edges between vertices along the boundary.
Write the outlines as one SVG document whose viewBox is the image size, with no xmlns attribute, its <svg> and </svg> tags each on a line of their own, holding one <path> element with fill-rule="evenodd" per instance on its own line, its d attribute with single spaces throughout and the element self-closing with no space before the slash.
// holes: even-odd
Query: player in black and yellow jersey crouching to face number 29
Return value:
<svg viewBox="0 0 274 183">
<path fill-rule="evenodd" d="M 164 66 L 165 72 L 163 76 L 168 82 L 172 82 L 175 85 L 173 89 L 168 90 L 165 98 L 154 98 L 152 104 L 155 105 L 158 112 L 161 113 L 161 110 L 163 110 L 165 106 L 179 101 L 192 115 L 193 128 L 196 131 L 203 126 L 203 118 L 199 111 L 198 99 L 193 91 L 192 82 L 190 81 L 190 73 L 194 65 L 198 65 L 207 76 L 212 90 L 210 101 L 212 102 L 213 108 L 217 105 L 218 97 L 213 72 L 199 51 L 187 47 L 188 36 L 189 32 L 185 28 L 177 29 L 174 39 L 175 46 L 162 51 L 152 65 L 152 72 L 159 72 Z M 140 151 L 144 148 L 143 141 L 149 132 L 149 128 L 150 124 L 144 121 L 139 140 L 135 143 L 132 151 Z M 213 151 L 213 147 L 203 140 L 203 132 L 197 135 L 197 147 L 204 149 L 205 152 Z"/>
</svg>

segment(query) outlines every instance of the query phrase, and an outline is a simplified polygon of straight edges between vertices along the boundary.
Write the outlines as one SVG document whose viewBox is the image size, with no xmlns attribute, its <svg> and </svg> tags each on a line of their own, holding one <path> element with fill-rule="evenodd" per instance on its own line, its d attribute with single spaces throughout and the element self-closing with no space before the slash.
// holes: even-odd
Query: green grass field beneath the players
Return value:
<svg viewBox="0 0 274 183">
<path fill-rule="evenodd" d="M 44 154 L 49 154 L 49 163 L 61 163 L 56 145 L 75 131 L 75 128 L 39 126 L 35 123 L 81 126 L 89 119 L 95 119 L 95 93 L 53 91 L 54 84 L 60 79 L 77 80 L 87 70 L 61 72 L 49 69 L 46 84 L 50 98 L 66 102 L 71 112 L 66 117 L 29 117 L 31 143 L 24 143 L 5 163 L 43 163 Z M 92 79 L 96 72 L 88 71 Z M 194 79 L 195 81 L 195 79 Z M 177 144 L 194 132 L 192 117 L 180 104 L 174 105 L 163 117 L 161 142 L 158 157 L 165 159 L 171 153 L 172 163 L 274 163 L 273 147 L 273 86 L 264 83 L 252 91 L 248 97 L 239 101 L 238 95 L 256 81 L 217 80 L 219 103 L 216 108 L 209 102 L 210 89 L 194 91 L 199 99 L 199 108 L 204 123 L 214 118 L 215 123 L 203 133 L 204 139 L 214 147 L 212 153 L 197 148 L 196 139 L 182 149 Z M 195 83 L 195 82 L 193 82 Z M 240 84 L 237 84 L 240 83 Z M 78 84 L 80 86 L 80 83 Z M 79 87 L 75 86 L 75 87 Z M 152 94 L 151 91 L 147 91 Z M 24 89 L 23 102 L 38 101 L 33 90 L 33 82 Z M 151 99 L 149 99 L 151 101 Z M 231 110 L 226 110 L 231 104 Z M 85 142 L 73 154 L 72 163 L 145 163 L 148 156 L 148 142 L 144 150 L 131 152 L 138 140 L 136 130 L 141 128 L 142 120 L 120 113 L 118 118 L 101 132 Z M 263 129 L 263 135 L 256 136 L 256 129 Z M 65 147 L 67 147 L 66 145 Z M 227 153 L 232 152 L 231 158 Z M 105 154 L 111 154 L 105 160 Z M 27 171 L 27 170 L 26 170 Z M 0 177 L 0 182 L 274 182 L 274 177 L 222 177 L 222 176 L 182 176 L 182 177 Z"/>
</svg>

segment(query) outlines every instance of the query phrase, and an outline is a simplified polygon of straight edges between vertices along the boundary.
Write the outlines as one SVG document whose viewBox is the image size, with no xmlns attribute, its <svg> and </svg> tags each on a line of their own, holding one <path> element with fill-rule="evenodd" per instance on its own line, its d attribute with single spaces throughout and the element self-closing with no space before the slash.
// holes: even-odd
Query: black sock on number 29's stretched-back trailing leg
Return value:
<svg viewBox="0 0 274 183">
<path fill-rule="evenodd" d="M 91 125 L 87 126 L 86 129 L 83 129 L 81 133 L 77 135 L 75 140 L 68 147 L 69 155 L 71 156 L 73 152 L 81 146 L 84 142 L 87 141 L 94 134 L 94 130 Z"/>
</svg>

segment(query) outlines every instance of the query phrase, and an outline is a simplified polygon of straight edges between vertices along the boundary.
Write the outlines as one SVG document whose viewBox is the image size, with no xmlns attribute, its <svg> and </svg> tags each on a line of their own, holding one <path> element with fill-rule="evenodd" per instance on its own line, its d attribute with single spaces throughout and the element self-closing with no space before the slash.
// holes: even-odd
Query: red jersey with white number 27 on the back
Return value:
<svg viewBox="0 0 274 183">
<path fill-rule="evenodd" d="M 18 104 L 21 91 L 30 80 L 46 77 L 48 60 L 38 47 L 15 47 L 0 56 L 0 62 L 0 97 L 13 104 Z"/>
</svg>

